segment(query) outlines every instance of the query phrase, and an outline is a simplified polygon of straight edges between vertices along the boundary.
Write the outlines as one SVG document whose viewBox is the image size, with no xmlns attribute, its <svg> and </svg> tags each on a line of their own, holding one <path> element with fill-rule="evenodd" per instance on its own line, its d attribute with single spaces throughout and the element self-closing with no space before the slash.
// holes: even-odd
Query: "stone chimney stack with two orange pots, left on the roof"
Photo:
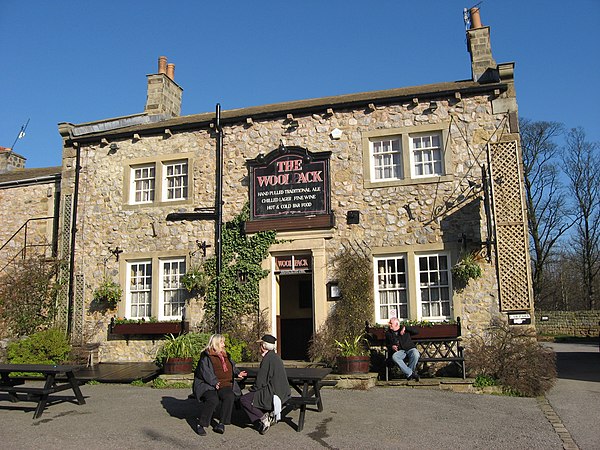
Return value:
<svg viewBox="0 0 600 450">
<path fill-rule="evenodd" d="M 151 115 L 179 116 L 183 89 L 175 83 L 175 64 L 167 64 L 167 57 L 161 56 L 158 58 L 158 73 L 146 77 L 148 95 L 144 112 Z"/>
</svg>

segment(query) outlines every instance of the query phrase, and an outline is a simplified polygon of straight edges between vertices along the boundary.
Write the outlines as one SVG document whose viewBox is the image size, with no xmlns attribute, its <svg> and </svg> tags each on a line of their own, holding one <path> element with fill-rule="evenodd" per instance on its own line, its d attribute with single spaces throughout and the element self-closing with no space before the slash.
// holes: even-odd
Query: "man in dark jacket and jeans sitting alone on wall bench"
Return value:
<svg viewBox="0 0 600 450">
<path fill-rule="evenodd" d="M 421 378 L 416 371 L 419 362 L 419 351 L 411 336 L 419 334 L 412 327 L 400 327 L 400 321 L 392 317 L 389 322 L 390 328 L 385 332 L 385 346 L 388 348 L 388 355 L 392 355 L 392 360 L 400 367 L 400 370 L 406 375 L 407 380 L 419 381 Z M 408 356 L 408 365 L 404 358 Z"/>
</svg>

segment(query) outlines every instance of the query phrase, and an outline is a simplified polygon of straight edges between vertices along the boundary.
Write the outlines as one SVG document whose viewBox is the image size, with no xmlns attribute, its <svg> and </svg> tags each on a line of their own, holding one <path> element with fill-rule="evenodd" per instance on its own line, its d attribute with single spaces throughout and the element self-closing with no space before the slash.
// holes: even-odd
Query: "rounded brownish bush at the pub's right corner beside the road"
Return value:
<svg viewBox="0 0 600 450">
<path fill-rule="evenodd" d="M 470 375 L 497 380 L 505 393 L 535 397 L 556 379 L 556 355 L 537 342 L 534 330 L 494 320 L 482 335 L 469 338 L 465 348 Z"/>
</svg>

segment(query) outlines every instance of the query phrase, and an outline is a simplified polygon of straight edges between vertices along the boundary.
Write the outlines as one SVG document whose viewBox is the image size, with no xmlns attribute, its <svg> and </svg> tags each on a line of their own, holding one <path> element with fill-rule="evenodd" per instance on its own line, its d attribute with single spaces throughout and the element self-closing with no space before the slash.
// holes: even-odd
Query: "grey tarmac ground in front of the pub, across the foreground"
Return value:
<svg viewBox="0 0 600 450">
<path fill-rule="evenodd" d="M 598 344 L 550 344 L 559 379 L 547 399 L 579 448 L 599 449 Z M 291 421 L 264 436 L 244 424 L 242 411 L 219 435 L 197 436 L 197 405 L 188 389 L 85 385 L 87 403 L 61 401 L 33 420 L 35 403 L 0 394 L 2 449 L 562 449 L 563 441 L 538 400 L 450 391 L 376 387 L 323 389 L 324 411 L 308 411 L 304 430 Z M 68 391 L 66 391 L 68 392 Z M 52 398 L 52 397 L 51 397 Z M 58 396 L 59 399 L 65 399 Z M 565 447 L 572 448 L 572 447 Z"/>
</svg>

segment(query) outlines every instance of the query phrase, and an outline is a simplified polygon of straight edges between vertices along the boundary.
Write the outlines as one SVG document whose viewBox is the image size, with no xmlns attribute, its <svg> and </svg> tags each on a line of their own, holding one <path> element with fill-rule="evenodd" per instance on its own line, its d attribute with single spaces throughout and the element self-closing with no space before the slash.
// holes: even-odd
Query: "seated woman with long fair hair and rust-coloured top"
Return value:
<svg viewBox="0 0 600 450">
<path fill-rule="evenodd" d="M 213 334 L 208 345 L 200 355 L 194 372 L 194 396 L 201 403 L 200 416 L 196 424 L 196 433 L 206 436 L 204 427 L 210 425 L 212 416 L 221 406 L 220 422 L 214 427 L 219 434 L 225 432 L 225 425 L 231 423 L 233 402 L 242 391 L 235 377 L 245 377 L 246 371 L 239 371 L 225 351 L 225 336 Z"/>
</svg>

